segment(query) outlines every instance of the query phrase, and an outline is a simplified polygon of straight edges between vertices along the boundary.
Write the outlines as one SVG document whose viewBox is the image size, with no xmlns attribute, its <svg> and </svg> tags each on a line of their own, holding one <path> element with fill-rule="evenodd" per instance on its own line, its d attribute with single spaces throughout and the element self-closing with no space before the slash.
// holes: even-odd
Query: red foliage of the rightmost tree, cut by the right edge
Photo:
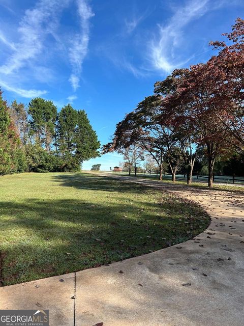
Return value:
<svg viewBox="0 0 244 326">
<path fill-rule="evenodd" d="M 226 141 L 244 153 L 244 20 L 237 18 L 232 32 L 223 35 L 231 45 L 210 42 L 219 54 L 208 62 L 209 69 L 218 76 L 214 100 L 217 104 L 222 102 L 221 107 L 218 105 L 216 119 L 227 131 Z"/>
</svg>

